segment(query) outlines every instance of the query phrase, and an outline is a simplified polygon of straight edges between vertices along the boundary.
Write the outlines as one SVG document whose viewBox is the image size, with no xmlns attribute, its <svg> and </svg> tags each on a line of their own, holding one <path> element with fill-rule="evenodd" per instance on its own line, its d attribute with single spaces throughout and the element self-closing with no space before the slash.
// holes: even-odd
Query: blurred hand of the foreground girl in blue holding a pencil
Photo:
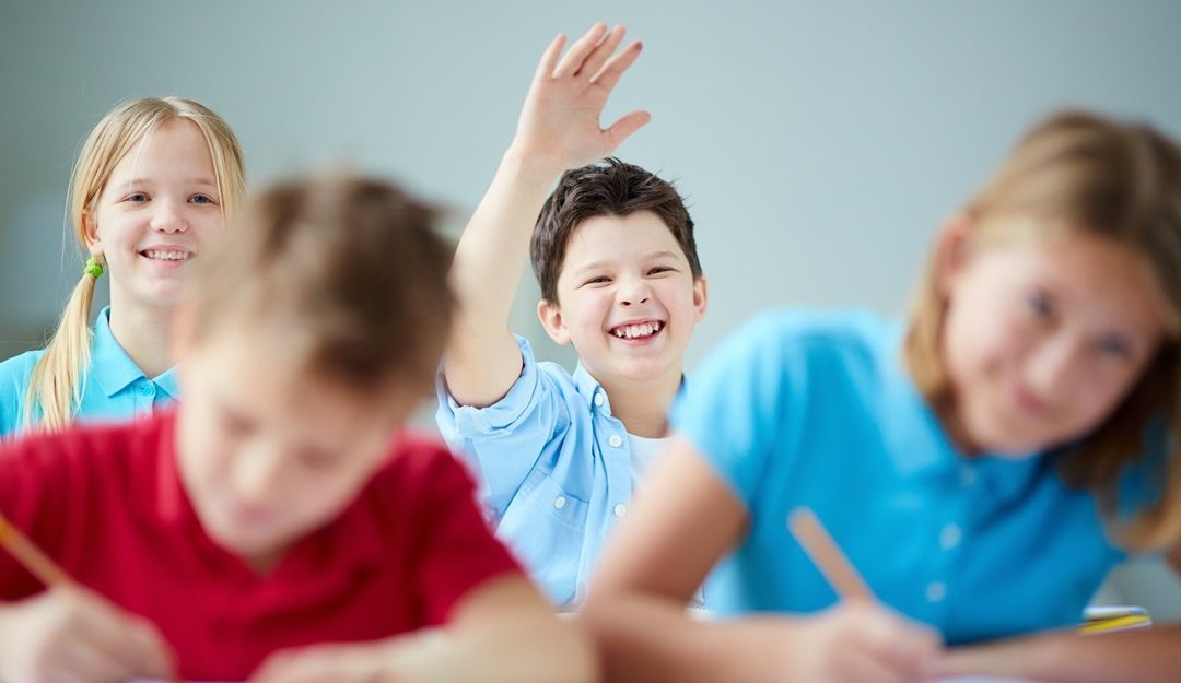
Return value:
<svg viewBox="0 0 1181 683">
<path fill-rule="evenodd" d="M 810 619 L 785 678 L 808 683 L 918 683 L 935 670 L 939 635 L 877 605 L 843 603 Z"/>
</svg>

